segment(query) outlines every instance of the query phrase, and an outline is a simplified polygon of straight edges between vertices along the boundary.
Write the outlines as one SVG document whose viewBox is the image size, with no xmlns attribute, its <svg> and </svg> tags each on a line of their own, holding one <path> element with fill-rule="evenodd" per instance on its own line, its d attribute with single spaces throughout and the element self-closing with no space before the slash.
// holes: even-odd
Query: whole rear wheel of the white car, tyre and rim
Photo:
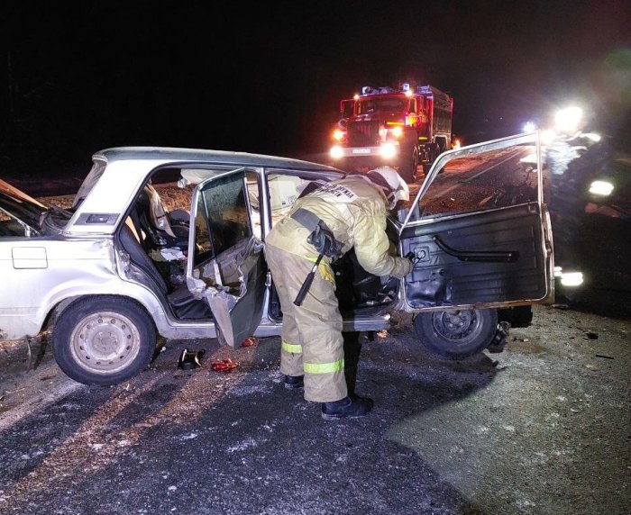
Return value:
<svg viewBox="0 0 631 515">
<path fill-rule="evenodd" d="M 117 384 L 149 365 L 156 348 L 151 317 L 131 299 L 85 297 L 61 314 L 51 335 L 59 368 L 83 384 Z"/>
</svg>

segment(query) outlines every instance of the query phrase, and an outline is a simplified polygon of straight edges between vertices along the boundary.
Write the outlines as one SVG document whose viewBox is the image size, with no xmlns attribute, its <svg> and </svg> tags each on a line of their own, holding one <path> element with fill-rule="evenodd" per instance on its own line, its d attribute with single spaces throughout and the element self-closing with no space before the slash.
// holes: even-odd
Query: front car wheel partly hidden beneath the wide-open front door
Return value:
<svg viewBox="0 0 631 515">
<path fill-rule="evenodd" d="M 496 310 L 453 310 L 420 313 L 416 335 L 430 352 L 449 359 L 478 354 L 489 346 L 498 329 Z"/>
</svg>

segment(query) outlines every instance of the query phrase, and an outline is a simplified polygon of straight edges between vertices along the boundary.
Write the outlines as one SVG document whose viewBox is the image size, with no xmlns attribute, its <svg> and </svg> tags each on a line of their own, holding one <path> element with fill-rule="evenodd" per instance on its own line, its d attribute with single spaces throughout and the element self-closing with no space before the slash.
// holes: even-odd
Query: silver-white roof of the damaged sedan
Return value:
<svg viewBox="0 0 631 515">
<path fill-rule="evenodd" d="M 302 159 L 210 149 L 179 149 L 174 147 L 114 147 L 96 152 L 93 158 L 105 160 L 108 164 L 123 160 L 151 159 L 154 161 L 163 161 L 165 164 L 169 162 L 198 162 L 251 167 L 290 167 L 303 170 L 313 170 L 315 168 L 340 172 L 337 168 Z"/>
</svg>

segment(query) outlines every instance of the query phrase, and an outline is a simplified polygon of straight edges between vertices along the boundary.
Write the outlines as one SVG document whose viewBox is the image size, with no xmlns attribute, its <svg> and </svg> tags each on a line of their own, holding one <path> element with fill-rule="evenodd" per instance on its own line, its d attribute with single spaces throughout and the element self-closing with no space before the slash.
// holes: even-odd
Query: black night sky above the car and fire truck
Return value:
<svg viewBox="0 0 631 515">
<path fill-rule="evenodd" d="M 341 98 L 406 79 L 451 93 L 469 142 L 572 100 L 617 113 L 630 95 L 625 1 L 43 4 L 0 7 L 14 172 L 115 145 L 321 151 Z"/>
</svg>

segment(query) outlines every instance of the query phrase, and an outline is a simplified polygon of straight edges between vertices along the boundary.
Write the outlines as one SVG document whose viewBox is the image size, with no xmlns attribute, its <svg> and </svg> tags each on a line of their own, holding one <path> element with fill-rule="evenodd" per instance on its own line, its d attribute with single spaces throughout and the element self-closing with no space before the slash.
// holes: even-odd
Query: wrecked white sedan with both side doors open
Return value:
<svg viewBox="0 0 631 515">
<path fill-rule="evenodd" d="M 536 134 L 522 134 L 438 158 L 389 220 L 413 272 L 370 276 L 352 252 L 335 262 L 344 329 L 381 330 L 392 310 L 413 312 L 427 348 L 460 358 L 487 348 L 516 306 L 552 302 L 542 170 L 519 163 L 539 149 Z M 150 363 L 158 335 L 234 346 L 280 333 L 265 237 L 308 182 L 342 171 L 197 149 L 105 149 L 93 161 L 69 210 L 0 183 L 0 338 L 51 330 L 67 375 L 116 384 Z M 489 202 L 525 176 L 528 198 Z M 152 185 L 169 181 L 188 192 L 186 212 L 160 203 Z"/>
</svg>

